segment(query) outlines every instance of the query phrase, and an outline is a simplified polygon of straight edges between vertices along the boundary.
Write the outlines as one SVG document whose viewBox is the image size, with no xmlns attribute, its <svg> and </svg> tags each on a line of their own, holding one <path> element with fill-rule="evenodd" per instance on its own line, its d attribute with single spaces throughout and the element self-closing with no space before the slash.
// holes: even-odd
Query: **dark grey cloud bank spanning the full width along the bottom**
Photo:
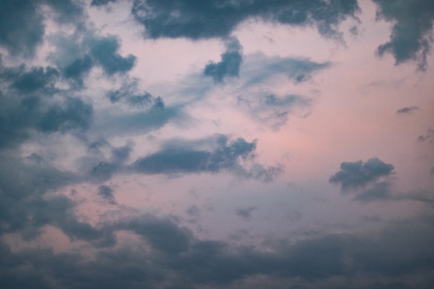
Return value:
<svg viewBox="0 0 434 289">
<path fill-rule="evenodd" d="M 175 218 L 146 214 L 107 227 L 129 231 L 143 243 L 97 249 L 94 259 L 40 248 L 12 252 L 0 243 L 0 268 L 7 268 L 0 281 L 14 287 L 33 277 L 40 288 L 73 289 L 251 288 L 250 281 L 261 277 L 262 288 L 274 288 L 272 280 L 279 280 L 278 288 L 296 282 L 300 288 L 428 289 L 433 281 L 433 224 L 432 216 L 421 216 L 389 222 L 370 236 L 329 234 L 297 242 L 273 238 L 265 251 L 199 240 Z M 137 251 L 137 245 L 146 249 Z"/>
</svg>

